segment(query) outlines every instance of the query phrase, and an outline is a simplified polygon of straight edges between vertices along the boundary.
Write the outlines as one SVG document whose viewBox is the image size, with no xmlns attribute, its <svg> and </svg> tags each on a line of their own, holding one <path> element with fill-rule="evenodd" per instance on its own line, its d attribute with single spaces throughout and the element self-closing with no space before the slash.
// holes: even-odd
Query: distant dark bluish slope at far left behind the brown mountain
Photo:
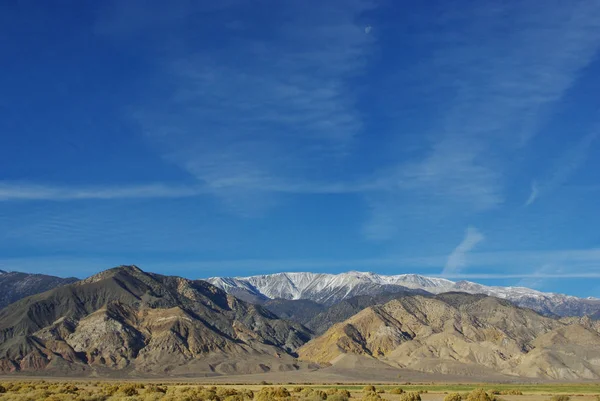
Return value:
<svg viewBox="0 0 600 401">
<path fill-rule="evenodd" d="M 77 280 L 74 277 L 61 278 L 0 270 L 0 309 L 21 298 L 74 283 Z"/>
</svg>

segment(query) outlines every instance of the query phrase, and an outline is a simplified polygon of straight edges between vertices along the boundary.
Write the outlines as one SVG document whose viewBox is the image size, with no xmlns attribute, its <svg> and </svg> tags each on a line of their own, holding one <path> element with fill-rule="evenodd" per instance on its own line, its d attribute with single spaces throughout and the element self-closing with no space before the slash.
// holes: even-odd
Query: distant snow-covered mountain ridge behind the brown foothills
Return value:
<svg viewBox="0 0 600 401">
<path fill-rule="evenodd" d="M 416 274 L 384 276 L 361 272 L 278 273 L 251 277 L 213 277 L 208 281 L 228 293 L 236 296 L 242 294 L 246 299 L 255 300 L 308 299 L 332 305 L 358 295 L 379 295 L 412 289 L 432 294 L 450 291 L 485 294 L 547 315 L 583 316 L 600 312 L 600 299 L 596 298 L 583 299 L 523 287 L 490 287 Z"/>
</svg>

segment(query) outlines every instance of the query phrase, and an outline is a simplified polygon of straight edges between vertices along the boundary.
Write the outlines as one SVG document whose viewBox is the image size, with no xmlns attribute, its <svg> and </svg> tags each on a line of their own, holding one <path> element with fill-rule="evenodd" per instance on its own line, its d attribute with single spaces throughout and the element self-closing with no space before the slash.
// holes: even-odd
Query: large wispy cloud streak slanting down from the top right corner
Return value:
<svg viewBox="0 0 600 401">
<path fill-rule="evenodd" d="M 406 191 L 426 198 L 432 209 L 445 205 L 448 215 L 502 205 L 506 171 L 522 145 L 539 132 L 549 108 L 600 48 L 597 2 L 543 8 L 534 1 L 477 3 L 460 13 L 428 10 L 423 21 L 424 39 L 418 43 L 431 46 L 431 56 L 411 76 L 425 77 L 420 85 L 436 94 L 432 102 L 439 115 L 432 117 L 436 123 L 419 156 L 387 171 L 396 185 L 373 202 L 374 217 L 366 228 L 371 237 L 396 233 L 379 222 L 382 215 L 388 220 L 398 215 L 398 199 Z M 432 31 L 432 25 L 439 30 Z M 377 227 L 387 231 L 373 235 Z"/>
</svg>

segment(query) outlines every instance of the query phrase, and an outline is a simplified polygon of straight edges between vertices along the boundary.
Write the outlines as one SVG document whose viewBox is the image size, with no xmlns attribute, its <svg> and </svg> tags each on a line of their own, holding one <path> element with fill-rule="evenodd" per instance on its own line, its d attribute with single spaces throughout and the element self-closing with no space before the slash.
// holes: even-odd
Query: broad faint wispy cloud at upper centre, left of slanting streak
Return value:
<svg viewBox="0 0 600 401">
<path fill-rule="evenodd" d="M 134 111 L 165 159 L 246 211 L 269 203 L 254 188 L 313 182 L 335 169 L 362 130 L 347 81 L 367 63 L 373 38 L 356 19 L 371 5 L 283 4 L 274 13 L 286 23 L 261 27 L 267 36 L 251 34 L 264 21 L 245 20 L 220 32 L 223 51 L 169 55 L 157 79 L 170 95 Z"/>
</svg>

